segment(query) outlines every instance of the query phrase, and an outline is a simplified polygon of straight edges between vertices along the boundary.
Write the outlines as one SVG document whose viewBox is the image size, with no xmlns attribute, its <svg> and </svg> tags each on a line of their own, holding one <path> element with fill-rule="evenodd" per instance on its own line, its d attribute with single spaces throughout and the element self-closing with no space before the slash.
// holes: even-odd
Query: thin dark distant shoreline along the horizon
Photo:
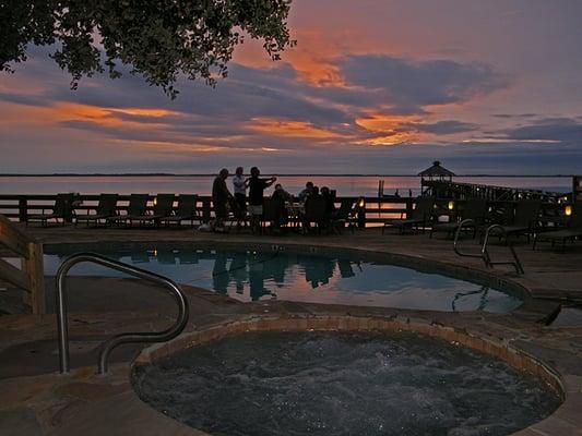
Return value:
<svg viewBox="0 0 582 436">
<path fill-rule="evenodd" d="M 75 172 L 62 172 L 62 173 L 26 173 L 26 174 L 15 174 L 15 173 L 0 173 L 0 178 L 49 178 L 49 177 L 64 177 L 64 178 L 92 178 L 92 177 L 114 177 L 114 178 L 130 178 L 130 177 L 175 177 L 175 178 L 203 178 L 203 177 L 215 177 L 216 174 L 174 174 L 168 172 L 136 172 L 136 173 L 105 173 L 105 172 L 94 172 L 94 173 L 75 173 Z M 301 173 L 301 174 L 290 174 L 290 173 L 281 173 L 281 172 L 271 172 L 264 173 L 263 175 L 277 175 L 277 177 L 376 177 L 376 178 L 418 178 L 417 174 L 324 174 L 324 173 Z M 456 174 L 458 178 L 572 178 L 575 174 Z"/>
</svg>

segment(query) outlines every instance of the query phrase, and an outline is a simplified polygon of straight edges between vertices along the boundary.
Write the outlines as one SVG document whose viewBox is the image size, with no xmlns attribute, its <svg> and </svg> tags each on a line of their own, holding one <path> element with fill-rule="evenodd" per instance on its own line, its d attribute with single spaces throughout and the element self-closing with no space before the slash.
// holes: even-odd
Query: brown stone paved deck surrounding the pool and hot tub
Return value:
<svg viewBox="0 0 582 436">
<path fill-rule="evenodd" d="M 418 262 L 436 261 L 460 271 L 491 274 L 479 259 L 455 256 L 449 240 L 431 240 L 425 234 L 381 237 L 377 229 L 357 231 L 355 234 L 307 238 L 71 227 L 31 228 L 28 231 L 45 243 L 205 241 L 241 245 L 260 242 L 325 246 L 326 250 L 356 249 L 409 256 Z M 477 250 L 477 246 L 467 242 L 467 250 Z M 562 323 L 558 318 L 559 322 L 550 326 L 536 323 L 555 301 L 582 301 L 582 244 L 568 246 L 563 254 L 546 247 L 532 252 L 528 246 L 520 245 L 518 253 L 524 264 L 524 276 L 518 277 L 503 268 L 495 269 L 492 274 L 500 280 L 510 280 L 524 287 L 533 300 L 530 307 L 504 315 L 352 307 L 276 300 L 240 303 L 228 296 L 187 287 L 191 310 L 187 334 L 168 344 L 147 349 L 140 360 L 146 361 L 146 356 L 155 356 L 155 353 L 163 355 L 183 348 L 185 341 L 197 335 L 217 336 L 216 331 L 225 325 L 235 330 L 244 330 L 251 325 L 310 329 L 320 328 L 321 323 L 328 323 L 329 329 L 385 329 L 385 325 L 397 322 L 403 326 L 420 326 L 420 330 L 439 329 L 446 332 L 443 338 L 450 341 L 460 339 L 459 335 L 468 334 L 479 340 L 485 339 L 491 349 L 516 349 L 522 356 L 543 362 L 550 374 L 556 372 L 560 375 L 566 402 L 548 419 L 515 435 L 582 435 L 580 317 L 574 311 L 568 317 L 570 322 Z M 507 256 L 507 251 L 499 246 L 494 255 Z M 50 284 L 48 280 L 47 286 Z M 143 284 L 118 278 L 73 278 L 71 300 L 74 300 L 75 289 L 102 298 L 83 299 L 73 305 L 69 319 L 71 363 L 75 370 L 69 376 L 56 373 L 58 354 L 54 315 L 41 318 L 31 315 L 0 316 L 0 434 L 202 435 L 154 411 L 138 398 L 130 385 L 129 373 L 131 362 L 143 347 L 119 348 L 112 355 L 112 374 L 105 377 L 94 375 L 99 340 L 135 328 L 151 329 L 168 325 L 174 313 L 170 299 L 144 290 Z M 138 292 L 140 298 L 135 298 Z M 121 294 L 118 306 L 107 298 L 116 293 Z M 551 299 L 554 303 L 546 299 Z M 520 366 L 518 361 L 513 364 Z"/>
</svg>

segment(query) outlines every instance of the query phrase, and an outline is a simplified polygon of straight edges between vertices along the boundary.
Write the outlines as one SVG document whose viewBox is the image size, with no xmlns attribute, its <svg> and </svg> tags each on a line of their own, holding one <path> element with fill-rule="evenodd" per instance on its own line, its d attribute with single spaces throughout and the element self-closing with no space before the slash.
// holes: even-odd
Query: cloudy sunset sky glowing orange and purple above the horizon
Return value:
<svg viewBox="0 0 582 436">
<path fill-rule="evenodd" d="M 295 0 L 216 88 L 0 73 L 0 172 L 582 173 L 582 1 Z"/>
</svg>

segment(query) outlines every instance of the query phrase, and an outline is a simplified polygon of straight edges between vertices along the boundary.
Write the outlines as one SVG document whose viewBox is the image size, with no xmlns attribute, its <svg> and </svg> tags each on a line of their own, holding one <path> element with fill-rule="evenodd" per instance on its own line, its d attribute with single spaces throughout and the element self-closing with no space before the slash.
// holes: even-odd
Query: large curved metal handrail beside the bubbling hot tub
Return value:
<svg viewBox="0 0 582 436">
<path fill-rule="evenodd" d="M 93 263 L 102 265 L 111 269 L 116 269 L 121 272 L 126 272 L 130 276 L 138 277 L 154 283 L 163 284 L 169 289 L 169 291 L 176 296 L 178 303 L 178 317 L 176 323 L 169 328 L 163 331 L 154 332 L 127 332 L 119 334 L 107 339 L 102 344 L 102 350 L 98 356 L 98 374 L 107 373 L 108 358 L 110 352 L 117 346 L 122 343 L 132 342 L 165 342 L 174 339 L 182 332 L 188 323 L 188 301 L 183 291 L 173 280 L 159 276 L 154 272 L 146 271 L 134 266 L 123 264 L 121 262 L 112 261 L 108 257 L 102 256 L 95 253 L 79 253 L 67 258 L 57 270 L 55 279 L 55 287 L 57 291 L 57 323 L 59 330 L 59 362 L 61 374 L 69 373 L 69 327 L 67 320 L 67 288 L 64 279 L 67 272 L 76 264 L 80 263 Z"/>
</svg>

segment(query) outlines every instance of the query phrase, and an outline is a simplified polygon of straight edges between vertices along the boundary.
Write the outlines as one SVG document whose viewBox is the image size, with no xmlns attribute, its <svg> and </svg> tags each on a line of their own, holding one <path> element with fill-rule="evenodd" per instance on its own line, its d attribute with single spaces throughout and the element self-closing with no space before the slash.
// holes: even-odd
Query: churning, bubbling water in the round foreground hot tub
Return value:
<svg viewBox="0 0 582 436">
<path fill-rule="evenodd" d="M 154 409 L 229 436 L 501 436 L 560 402 L 501 361 L 414 334 L 249 332 L 133 382 Z"/>
</svg>

